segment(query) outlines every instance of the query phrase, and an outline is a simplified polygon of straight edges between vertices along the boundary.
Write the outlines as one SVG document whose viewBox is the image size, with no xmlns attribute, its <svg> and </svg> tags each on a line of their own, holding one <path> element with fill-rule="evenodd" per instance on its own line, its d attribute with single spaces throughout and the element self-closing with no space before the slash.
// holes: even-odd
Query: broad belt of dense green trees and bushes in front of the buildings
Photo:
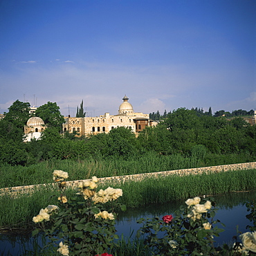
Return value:
<svg viewBox="0 0 256 256">
<path fill-rule="evenodd" d="M 0 120 L 0 164 L 30 165 L 49 159 L 138 160 L 149 152 L 157 157 L 173 154 L 193 157 L 201 165 L 227 163 L 228 158 L 230 163 L 256 160 L 256 125 L 241 117 L 228 120 L 223 116 L 199 115 L 199 111 L 181 108 L 166 113 L 156 127 L 147 127 L 138 137 L 125 127 L 113 129 L 109 134 L 77 137 L 60 134 L 63 117 L 57 105 L 48 102 L 36 112 L 36 116 L 48 116 L 43 118 L 48 128 L 41 140 L 24 143 L 28 106 L 17 101 L 6 118 Z"/>
</svg>

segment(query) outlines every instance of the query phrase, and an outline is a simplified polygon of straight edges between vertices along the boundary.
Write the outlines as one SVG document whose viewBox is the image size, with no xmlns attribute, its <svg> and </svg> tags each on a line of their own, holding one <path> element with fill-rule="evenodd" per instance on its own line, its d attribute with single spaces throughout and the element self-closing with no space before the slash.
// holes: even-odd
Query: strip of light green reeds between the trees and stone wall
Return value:
<svg viewBox="0 0 256 256">
<path fill-rule="evenodd" d="M 247 155 L 246 155 L 247 156 Z M 245 163 L 253 159 L 245 156 L 214 155 L 205 159 L 184 157 L 180 154 L 164 156 L 149 152 L 143 156 L 134 156 L 128 160 L 122 158 L 87 158 L 83 161 L 52 160 L 43 161 L 29 166 L 0 165 L 0 188 L 20 185 L 34 185 L 51 183 L 53 170 L 64 170 L 69 174 L 69 180 L 89 179 L 91 176 L 108 177 L 148 172 L 161 172 L 212 165 L 226 165 L 230 163 Z"/>
</svg>

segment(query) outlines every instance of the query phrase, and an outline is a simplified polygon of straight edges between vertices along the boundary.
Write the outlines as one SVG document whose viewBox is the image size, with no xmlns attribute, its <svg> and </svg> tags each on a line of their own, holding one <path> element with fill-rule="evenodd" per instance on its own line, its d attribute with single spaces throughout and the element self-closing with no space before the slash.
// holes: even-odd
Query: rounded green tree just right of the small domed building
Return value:
<svg viewBox="0 0 256 256">
<path fill-rule="evenodd" d="M 35 116 L 42 118 L 47 127 L 57 127 L 59 131 L 62 130 L 62 124 L 65 122 L 56 102 L 48 101 L 47 104 L 40 106 L 35 111 Z"/>
</svg>

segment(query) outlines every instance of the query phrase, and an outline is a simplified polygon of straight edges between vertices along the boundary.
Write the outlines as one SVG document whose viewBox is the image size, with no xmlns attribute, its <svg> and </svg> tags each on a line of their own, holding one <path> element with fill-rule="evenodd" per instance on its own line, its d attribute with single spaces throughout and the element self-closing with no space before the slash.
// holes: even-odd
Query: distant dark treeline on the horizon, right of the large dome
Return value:
<svg viewBox="0 0 256 256">
<path fill-rule="evenodd" d="M 224 111 L 224 110 L 219 110 L 216 111 L 214 113 L 214 115 L 212 115 L 212 108 L 210 107 L 208 111 L 203 111 L 202 108 L 192 108 L 191 110 L 196 112 L 197 116 L 214 116 L 214 117 L 218 117 L 218 116 L 226 116 L 228 117 L 237 117 L 237 116 L 253 116 L 254 111 L 253 109 L 251 109 L 250 111 L 246 111 L 243 109 L 238 109 L 238 110 L 233 110 L 231 113 L 229 111 Z M 172 111 L 168 112 L 165 111 L 163 112 L 163 115 L 161 115 L 161 113 L 159 111 L 153 112 L 153 113 L 149 113 L 149 118 L 152 120 L 163 120 L 165 118 L 167 118 L 168 115 L 172 114 Z"/>
</svg>

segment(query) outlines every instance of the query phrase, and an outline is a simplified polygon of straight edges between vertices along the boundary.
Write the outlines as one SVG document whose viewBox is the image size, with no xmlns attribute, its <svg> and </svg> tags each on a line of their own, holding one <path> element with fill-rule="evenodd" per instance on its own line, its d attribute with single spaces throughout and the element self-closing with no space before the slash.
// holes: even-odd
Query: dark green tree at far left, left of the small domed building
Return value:
<svg viewBox="0 0 256 256">
<path fill-rule="evenodd" d="M 16 127 L 24 129 L 24 125 L 26 125 L 28 118 L 30 118 L 30 104 L 16 100 L 8 110 L 8 113 L 4 113 L 6 115 L 4 119 L 12 122 Z"/>
</svg>

